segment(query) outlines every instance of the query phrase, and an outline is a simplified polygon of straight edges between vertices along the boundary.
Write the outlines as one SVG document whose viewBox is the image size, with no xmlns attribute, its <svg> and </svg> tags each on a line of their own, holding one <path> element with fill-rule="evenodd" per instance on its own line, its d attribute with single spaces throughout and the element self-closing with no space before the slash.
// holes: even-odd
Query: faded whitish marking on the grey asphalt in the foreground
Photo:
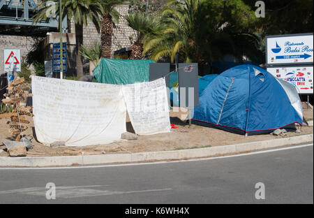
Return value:
<svg viewBox="0 0 314 218">
<path fill-rule="evenodd" d="M 147 189 L 147 190 L 133 190 L 133 191 L 112 191 L 112 190 L 101 190 L 91 189 L 92 187 L 105 187 L 108 185 L 90 185 L 90 186 L 63 186 L 56 187 L 56 198 L 82 198 L 92 196 L 110 196 L 117 194 L 137 194 L 143 192 L 153 191 L 169 191 L 172 189 Z M 45 196 L 47 189 L 45 187 L 30 187 L 25 189 L 13 189 L 0 191 L 1 194 L 28 194 L 33 196 Z"/>
</svg>

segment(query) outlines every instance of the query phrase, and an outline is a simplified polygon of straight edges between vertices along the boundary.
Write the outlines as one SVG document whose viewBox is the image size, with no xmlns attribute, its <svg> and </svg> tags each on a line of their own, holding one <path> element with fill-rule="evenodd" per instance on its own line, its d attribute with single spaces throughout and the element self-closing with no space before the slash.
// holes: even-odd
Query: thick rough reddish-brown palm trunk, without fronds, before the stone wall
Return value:
<svg viewBox="0 0 314 218">
<path fill-rule="evenodd" d="M 112 17 L 103 15 L 101 19 L 101 56 L 111 58 L 111 45 L 113 36 Z"/>
</svg>

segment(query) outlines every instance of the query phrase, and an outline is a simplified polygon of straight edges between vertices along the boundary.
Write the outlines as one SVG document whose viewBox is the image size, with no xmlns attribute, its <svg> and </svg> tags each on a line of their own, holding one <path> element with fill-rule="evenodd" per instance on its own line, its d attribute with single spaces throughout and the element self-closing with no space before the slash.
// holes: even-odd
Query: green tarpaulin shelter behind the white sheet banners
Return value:
<svg viewBox="0 0 314 218">
<path fill-rule="evenodd" d="M 101 59 L 93 71 L 97 82 L 126 85 L 149 82 L 149 63 L 152 60 Z"/>
</svg>

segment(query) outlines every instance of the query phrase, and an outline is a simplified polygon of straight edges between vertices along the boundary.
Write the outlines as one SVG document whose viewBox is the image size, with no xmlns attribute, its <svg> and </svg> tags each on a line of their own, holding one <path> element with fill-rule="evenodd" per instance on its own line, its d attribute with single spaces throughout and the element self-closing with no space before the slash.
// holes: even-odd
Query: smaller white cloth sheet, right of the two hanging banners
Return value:
<svg viewBox="0 0 314 218">
<path fill-rule="evenodd" d="M 170 132 L 165 78 L 124 85 L 122 90 L 135 133 L 151 135 Z"/>
</svg>

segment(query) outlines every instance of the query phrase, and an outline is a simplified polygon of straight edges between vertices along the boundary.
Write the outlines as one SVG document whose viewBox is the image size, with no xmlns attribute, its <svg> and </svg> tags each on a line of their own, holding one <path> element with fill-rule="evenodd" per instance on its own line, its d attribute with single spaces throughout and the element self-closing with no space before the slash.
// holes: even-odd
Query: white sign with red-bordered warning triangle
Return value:
<svg viewBox="0 0 314 218">
<path fill-rule="evenodd" d="M 4 72 L 21 71 L 20 49 L 4 50 Z"/>
</svg>

